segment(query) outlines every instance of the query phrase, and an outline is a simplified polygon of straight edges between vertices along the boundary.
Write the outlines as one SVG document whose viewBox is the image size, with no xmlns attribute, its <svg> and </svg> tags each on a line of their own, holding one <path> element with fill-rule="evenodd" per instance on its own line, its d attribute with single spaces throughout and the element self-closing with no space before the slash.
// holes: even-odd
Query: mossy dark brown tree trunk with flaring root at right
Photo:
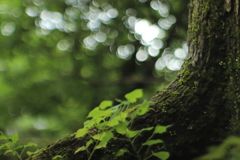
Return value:
<svg viewBox="0 0 240 160">
<path fill-rule="evenodd" d="M 190 160 L 203 154 L 207 146 L 239 134 L 239 8 L 240 0 L 191 0 L 189 59 L 177 78 L 151 99 L 152 109 L 134 120 L 136 130 L 171 125 L 166 133 L 155 137 L 164 140 L 171 160 Z M 138 145 L 148 136 L 146 133 L 139 137 Z M 68 160 L 88 159 L 86 152 L 74 152 L 89 139 L 69 135 L 29 160 L 50 160 L 55 155 Z M 106 148 L 96 150 L 91 160 L 114 159 L 121 148 L 131 150 L 127 142 L 111 140 Z M 115 159 L 139 158 L 124 154 Z"/>
</svg>

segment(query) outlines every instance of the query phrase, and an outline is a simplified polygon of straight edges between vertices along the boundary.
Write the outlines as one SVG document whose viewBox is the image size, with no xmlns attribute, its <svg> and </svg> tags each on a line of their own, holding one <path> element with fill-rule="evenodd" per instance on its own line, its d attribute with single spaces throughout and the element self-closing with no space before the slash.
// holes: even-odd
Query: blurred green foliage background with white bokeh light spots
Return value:
<svg viewBox="0 0 240 160">
<path fill-rule="evenodd" d="M 104 99 L 136 88 L 150 98 L 186 58 L 187 5 L 1 1 L 0 130 L 41 147 L 81 128 Z M 137 33 L 137 22 L 158 35 Z"/>
</svg>

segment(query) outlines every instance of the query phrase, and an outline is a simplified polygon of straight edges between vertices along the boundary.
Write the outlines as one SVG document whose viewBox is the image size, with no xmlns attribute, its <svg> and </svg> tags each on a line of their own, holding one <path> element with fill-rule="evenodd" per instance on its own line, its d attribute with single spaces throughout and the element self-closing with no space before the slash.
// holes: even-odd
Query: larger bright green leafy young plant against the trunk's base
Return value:
<svg viewBox="0 0 240 160">
<path fill-rule="evenodd" d="M 152 156 L 161 160 L 166 160 L 169 157 L 168 152 L 150 152 L 151 146 L 159 143 L 163 143 L 160 139 L 152 139 L 153 135 L 161 134 L 166 131 L 165 126 L 147 127 L 141 130 L 131 130 L 131 124 L 137 116 L 144 115 L 149 110 L 150 103 L 144 101 L 140 105 L 134 105 L 137 99 L 143 95 L 141 89 L 136 89 L 125 95 L 126 100 L 121 101 L 120 104 L 112 106 L 112 101 L 103 101 L 98 107 L 94 108 L 88 115 L 89 120 L 84 123 L 84 128 L 81 128 L 76 133 L 76 138 L 83 137 L 86 134 L 91 136 L 91 139 L 85 146 L 81 146 L 75 151 L 75 154 L 81 151 L 86 151 L 89 154 L 88 160 L 91 160 L 95 150 L 104 148 L 108 142 L 114 137 L 115 133 L 123 135 L 123 140 L 128 141 L 134 153 L 126 149 L 120 149 L 116 153 L 116 157 L 122 156 L 125 153 L 134 155 L 139 160 L 147 160 Z M 92 130 L 96 130 L 97 134 L 92 134 Z M 91 131 L 90 131 L 91 130 Z M 153 131 L 154 130 L 154 131 Z M 152 131 L 152 135 L 148 140 L 142 144 L 141 147 L 137 147 L 134 143 L 143 131 Z M 89 147 L 94 144 L 94 147 L 89 151 Z M 140 155 L 142 148 L 147 146 L 144 156 Z M 142 153 L 142 152 L 141 152 Z"/>
</svg>

